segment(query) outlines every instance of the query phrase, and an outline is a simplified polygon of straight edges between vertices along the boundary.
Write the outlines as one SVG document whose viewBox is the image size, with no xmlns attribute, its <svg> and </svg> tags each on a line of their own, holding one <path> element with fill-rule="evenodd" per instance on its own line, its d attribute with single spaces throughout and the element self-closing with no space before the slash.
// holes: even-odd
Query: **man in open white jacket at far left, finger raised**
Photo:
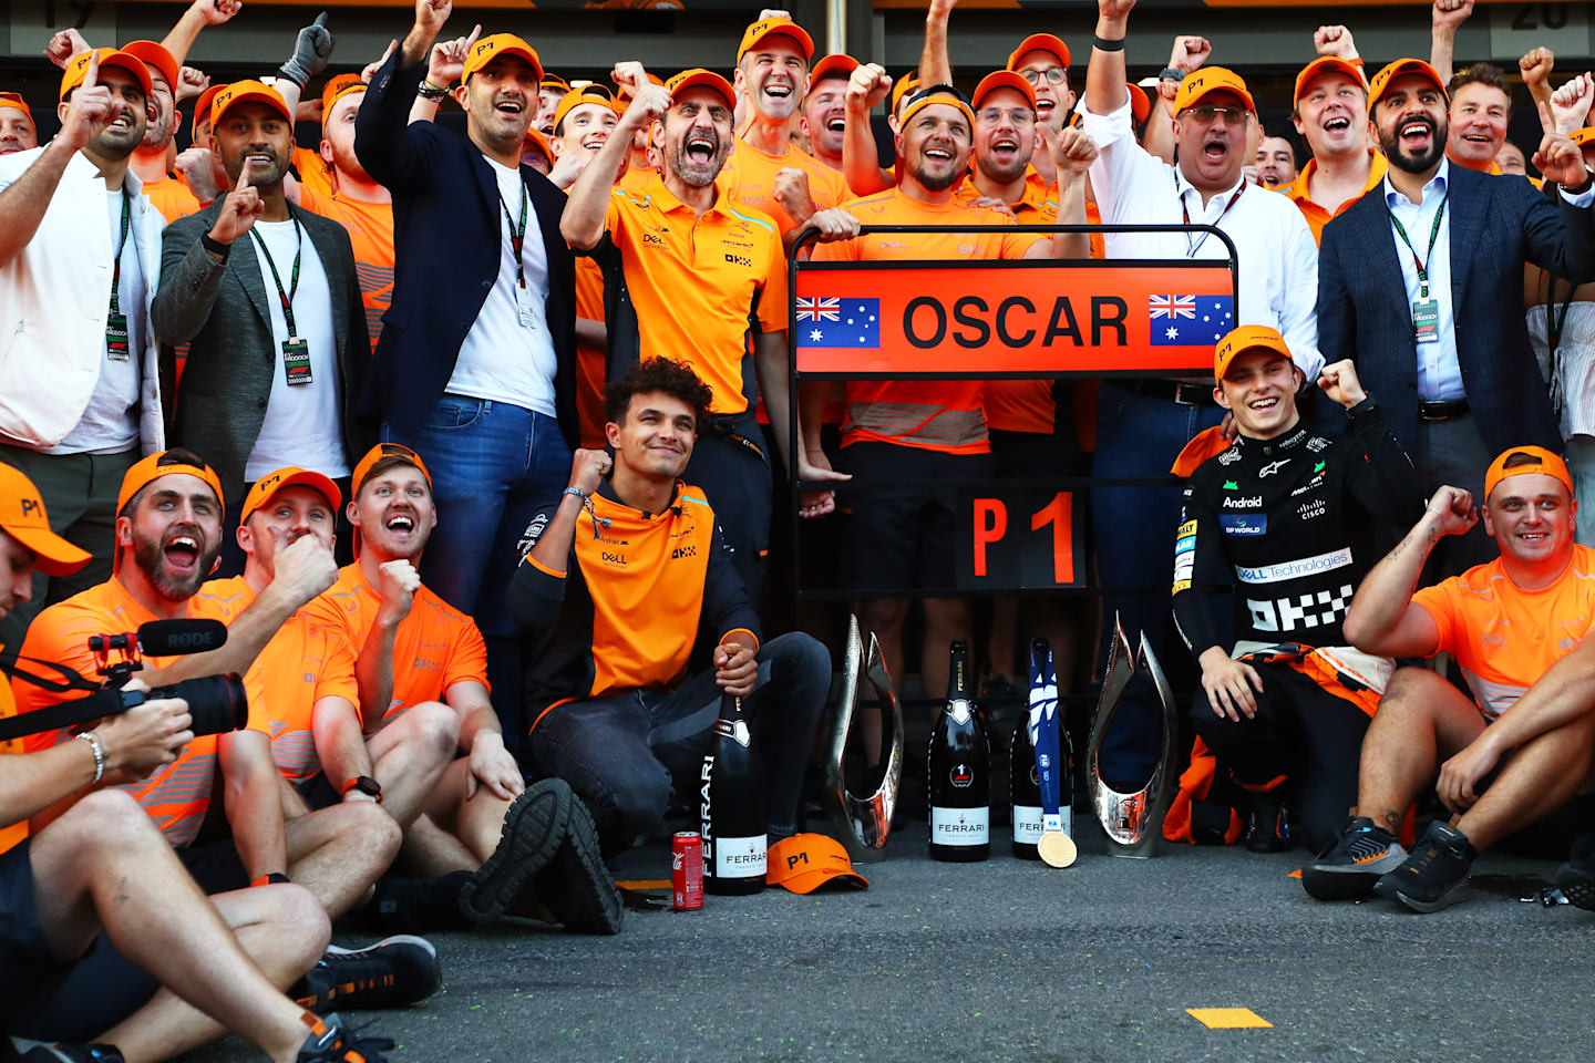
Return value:
<svg viewBox="0 0 1595 1063">
<path fill-rule="evenodd" d="M 164 443 L 148 312 L 163 218 L 128 169 L 148 107 L 144 62 L 85 51 L 61 78 L 61 132 L 0 159 L 0 461 L 93 555 L 48 586 L 35 575 L 40 609 L 110 577 L 121 477 Z"/>
</svg>

